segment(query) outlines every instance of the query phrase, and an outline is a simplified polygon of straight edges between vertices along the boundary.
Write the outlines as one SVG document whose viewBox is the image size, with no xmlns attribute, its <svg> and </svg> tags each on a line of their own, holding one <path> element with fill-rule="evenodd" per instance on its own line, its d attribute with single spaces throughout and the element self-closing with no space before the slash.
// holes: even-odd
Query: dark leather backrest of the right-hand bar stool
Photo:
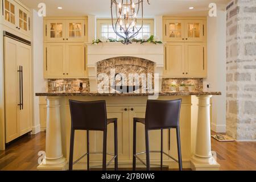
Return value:
<svg viewBox="0 0 256 182">
<path fill-rule="evenodd" d="M 148 130 L 177 128 L 181 99 L 172 101 L 148 100 L 145 127 Z"/>
</svg>

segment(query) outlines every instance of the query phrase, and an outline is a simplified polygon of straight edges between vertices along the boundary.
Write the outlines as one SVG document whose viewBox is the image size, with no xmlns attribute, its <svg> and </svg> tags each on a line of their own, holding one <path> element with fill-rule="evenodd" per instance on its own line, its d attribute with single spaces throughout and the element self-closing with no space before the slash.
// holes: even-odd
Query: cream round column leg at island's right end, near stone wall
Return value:
<svg viewBox="0 0 256 182">
<path fill-rule="evenodd" d="M 196 150 L 192 156 L 193 170 L 218 170 L 218 164 L 212 155 L 210 143 L 210 98 L 212 96 L 197 96 L 199 99 Z"/>
</svg>

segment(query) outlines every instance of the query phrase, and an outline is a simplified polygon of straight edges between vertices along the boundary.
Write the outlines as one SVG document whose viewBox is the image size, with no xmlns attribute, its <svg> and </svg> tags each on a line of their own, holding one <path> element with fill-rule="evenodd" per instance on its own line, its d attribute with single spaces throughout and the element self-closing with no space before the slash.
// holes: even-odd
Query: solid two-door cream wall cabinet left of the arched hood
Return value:
<svg viewBox="0 0 256 182">
<path fill-rule="evenodd" d="M 86 75 L 84 43 L 44 44 L 45 78 L 84 78 Z"/>
</svg>

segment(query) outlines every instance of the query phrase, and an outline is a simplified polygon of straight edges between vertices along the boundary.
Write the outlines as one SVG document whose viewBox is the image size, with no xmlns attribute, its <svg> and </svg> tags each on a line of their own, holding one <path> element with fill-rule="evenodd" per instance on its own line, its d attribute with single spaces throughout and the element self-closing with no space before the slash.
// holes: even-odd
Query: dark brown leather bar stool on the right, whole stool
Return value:
<svg viewBox="0 0 256 182">
<path fill-rule="evenodd" d="M 182 170 L 181 160 L 181 147 L 180 147 L 180 128 L 179 128 L 179 117 L 180 117 L 180 100 L 173 101 L 157 101 L 148 100 L 146 109 L 146 118 L 133 118 L 133 170 L 136 169 L 136 159 L 142 162 L 147 170 L 150 170 L 150 152 L 158 152 L 161 154 L 160 167 L 163 168 L 163 154 L 179 163 L 179 169 Z M 145 125 L 145 139 L 146 139 L 146 152 L 136 153 L 136 126 L 137 122 Z M 176 129 L 177 135 L 177 152 L 178 160 L 168 155 L 163 151 L 163 129 Z M 161 150 L 150 151 L 148 131 L 150 130 L 161 130 Z M 146 163 L 138 157 L 140 154 L 146 153 Z"/>
</svg>

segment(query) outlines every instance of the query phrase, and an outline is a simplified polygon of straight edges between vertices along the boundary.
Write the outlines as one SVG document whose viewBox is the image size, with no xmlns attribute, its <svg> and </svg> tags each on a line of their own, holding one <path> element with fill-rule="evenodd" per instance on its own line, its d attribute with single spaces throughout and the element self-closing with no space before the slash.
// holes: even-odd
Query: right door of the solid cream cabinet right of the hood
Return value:
<svg viewBox="0 0 256 182">
<path fill-rule="evenodd" d="M 207 43 L 185 43 L 186 73 L 207 77 Z"/>
</svg>

